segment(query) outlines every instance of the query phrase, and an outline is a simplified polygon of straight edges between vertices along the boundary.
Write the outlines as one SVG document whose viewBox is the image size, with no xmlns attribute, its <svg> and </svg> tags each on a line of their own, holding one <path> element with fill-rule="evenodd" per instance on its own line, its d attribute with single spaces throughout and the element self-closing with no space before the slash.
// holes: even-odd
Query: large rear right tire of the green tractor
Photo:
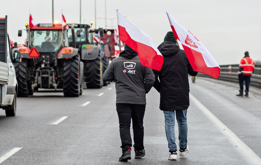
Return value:
<svg viewBox="0 0 261 165">
<path fill-rule="evenodd" d="M 102 78 L 102 62 L 100 61 L 100 54 L 95 60 L 86 60 L 85 67 L 85 81 L 87 88 L 101 88 L 103 86 Z"/>
</svg>

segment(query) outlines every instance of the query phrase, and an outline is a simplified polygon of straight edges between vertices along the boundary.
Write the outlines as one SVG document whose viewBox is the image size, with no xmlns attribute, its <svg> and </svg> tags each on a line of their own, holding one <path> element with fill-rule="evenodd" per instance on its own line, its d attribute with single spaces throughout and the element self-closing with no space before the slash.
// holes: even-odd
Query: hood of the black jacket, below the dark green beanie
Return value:
<svg viewBox="0 0 261 165">
<path fill-rule="evenodd" d="M 158 50 L 163 57 L 170 57 L 175 55 L 180 49 L 174 42 L 164 41 L 158 46 Z"/>
</svg>

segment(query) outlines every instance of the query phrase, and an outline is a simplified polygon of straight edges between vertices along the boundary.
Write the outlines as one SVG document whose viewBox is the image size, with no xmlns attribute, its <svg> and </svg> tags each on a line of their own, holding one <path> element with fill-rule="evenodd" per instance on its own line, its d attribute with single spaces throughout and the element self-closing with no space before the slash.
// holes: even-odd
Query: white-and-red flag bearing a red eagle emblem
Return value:
<svg viewBox="0 0 261 165">
<path fill-rule="evenodd" d="M 217 79 L 220 67 L 207 48 L 192 33 L 179 25 L 168 12 L 167 16 L 174 37 L 181 42 L 193 70 Z"/>
</svg>

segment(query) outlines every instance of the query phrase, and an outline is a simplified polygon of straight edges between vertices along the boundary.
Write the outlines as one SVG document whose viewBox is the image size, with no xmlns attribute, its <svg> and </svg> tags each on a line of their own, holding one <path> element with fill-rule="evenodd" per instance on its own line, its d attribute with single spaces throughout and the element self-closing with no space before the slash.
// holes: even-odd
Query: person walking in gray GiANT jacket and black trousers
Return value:
<svg viewBox="0 0 261 165">
<path fill-rule="evenodd" d="M 103 73 L 105 81 L 114 81 L 116 87 L 116 111 L 118 113 L 122 155 L 119 161 L 131 159 L 132 119 L 135 159 L 145 156 L 143 146 L 143 117 L 146 107 L 146 93 L 155 81 L 152 69 L 144 67 L 136 51 L 125 44 L 118 58 L 114 58 Z"/>
</svg>

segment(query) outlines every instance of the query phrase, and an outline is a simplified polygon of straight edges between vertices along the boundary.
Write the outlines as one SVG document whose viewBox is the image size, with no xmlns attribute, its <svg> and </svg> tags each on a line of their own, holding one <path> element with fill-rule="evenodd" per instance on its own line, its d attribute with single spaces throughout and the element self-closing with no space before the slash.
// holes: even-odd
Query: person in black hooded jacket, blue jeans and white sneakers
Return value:
<svg viewBox="0 0 261 165">
<path fill-rule="evenodd" d="M 160 110 L 165 116 L 165 132 L 169 146 L 169 160 L 177 160 L 175 143 L 175 113 L 179 127 L 179 156 L 189 151 L 187 145 L 187 109 L 189 107 L 188 74 L 196 76 L 184 50 L 179 49 L 172 31 L 168 32 L 158 46 L 164 57 L 161 71 L 153 70 L 154 88 L 160 93 Z M 159 78 L 159 79 L 158 79 Z"/>
</svg>

